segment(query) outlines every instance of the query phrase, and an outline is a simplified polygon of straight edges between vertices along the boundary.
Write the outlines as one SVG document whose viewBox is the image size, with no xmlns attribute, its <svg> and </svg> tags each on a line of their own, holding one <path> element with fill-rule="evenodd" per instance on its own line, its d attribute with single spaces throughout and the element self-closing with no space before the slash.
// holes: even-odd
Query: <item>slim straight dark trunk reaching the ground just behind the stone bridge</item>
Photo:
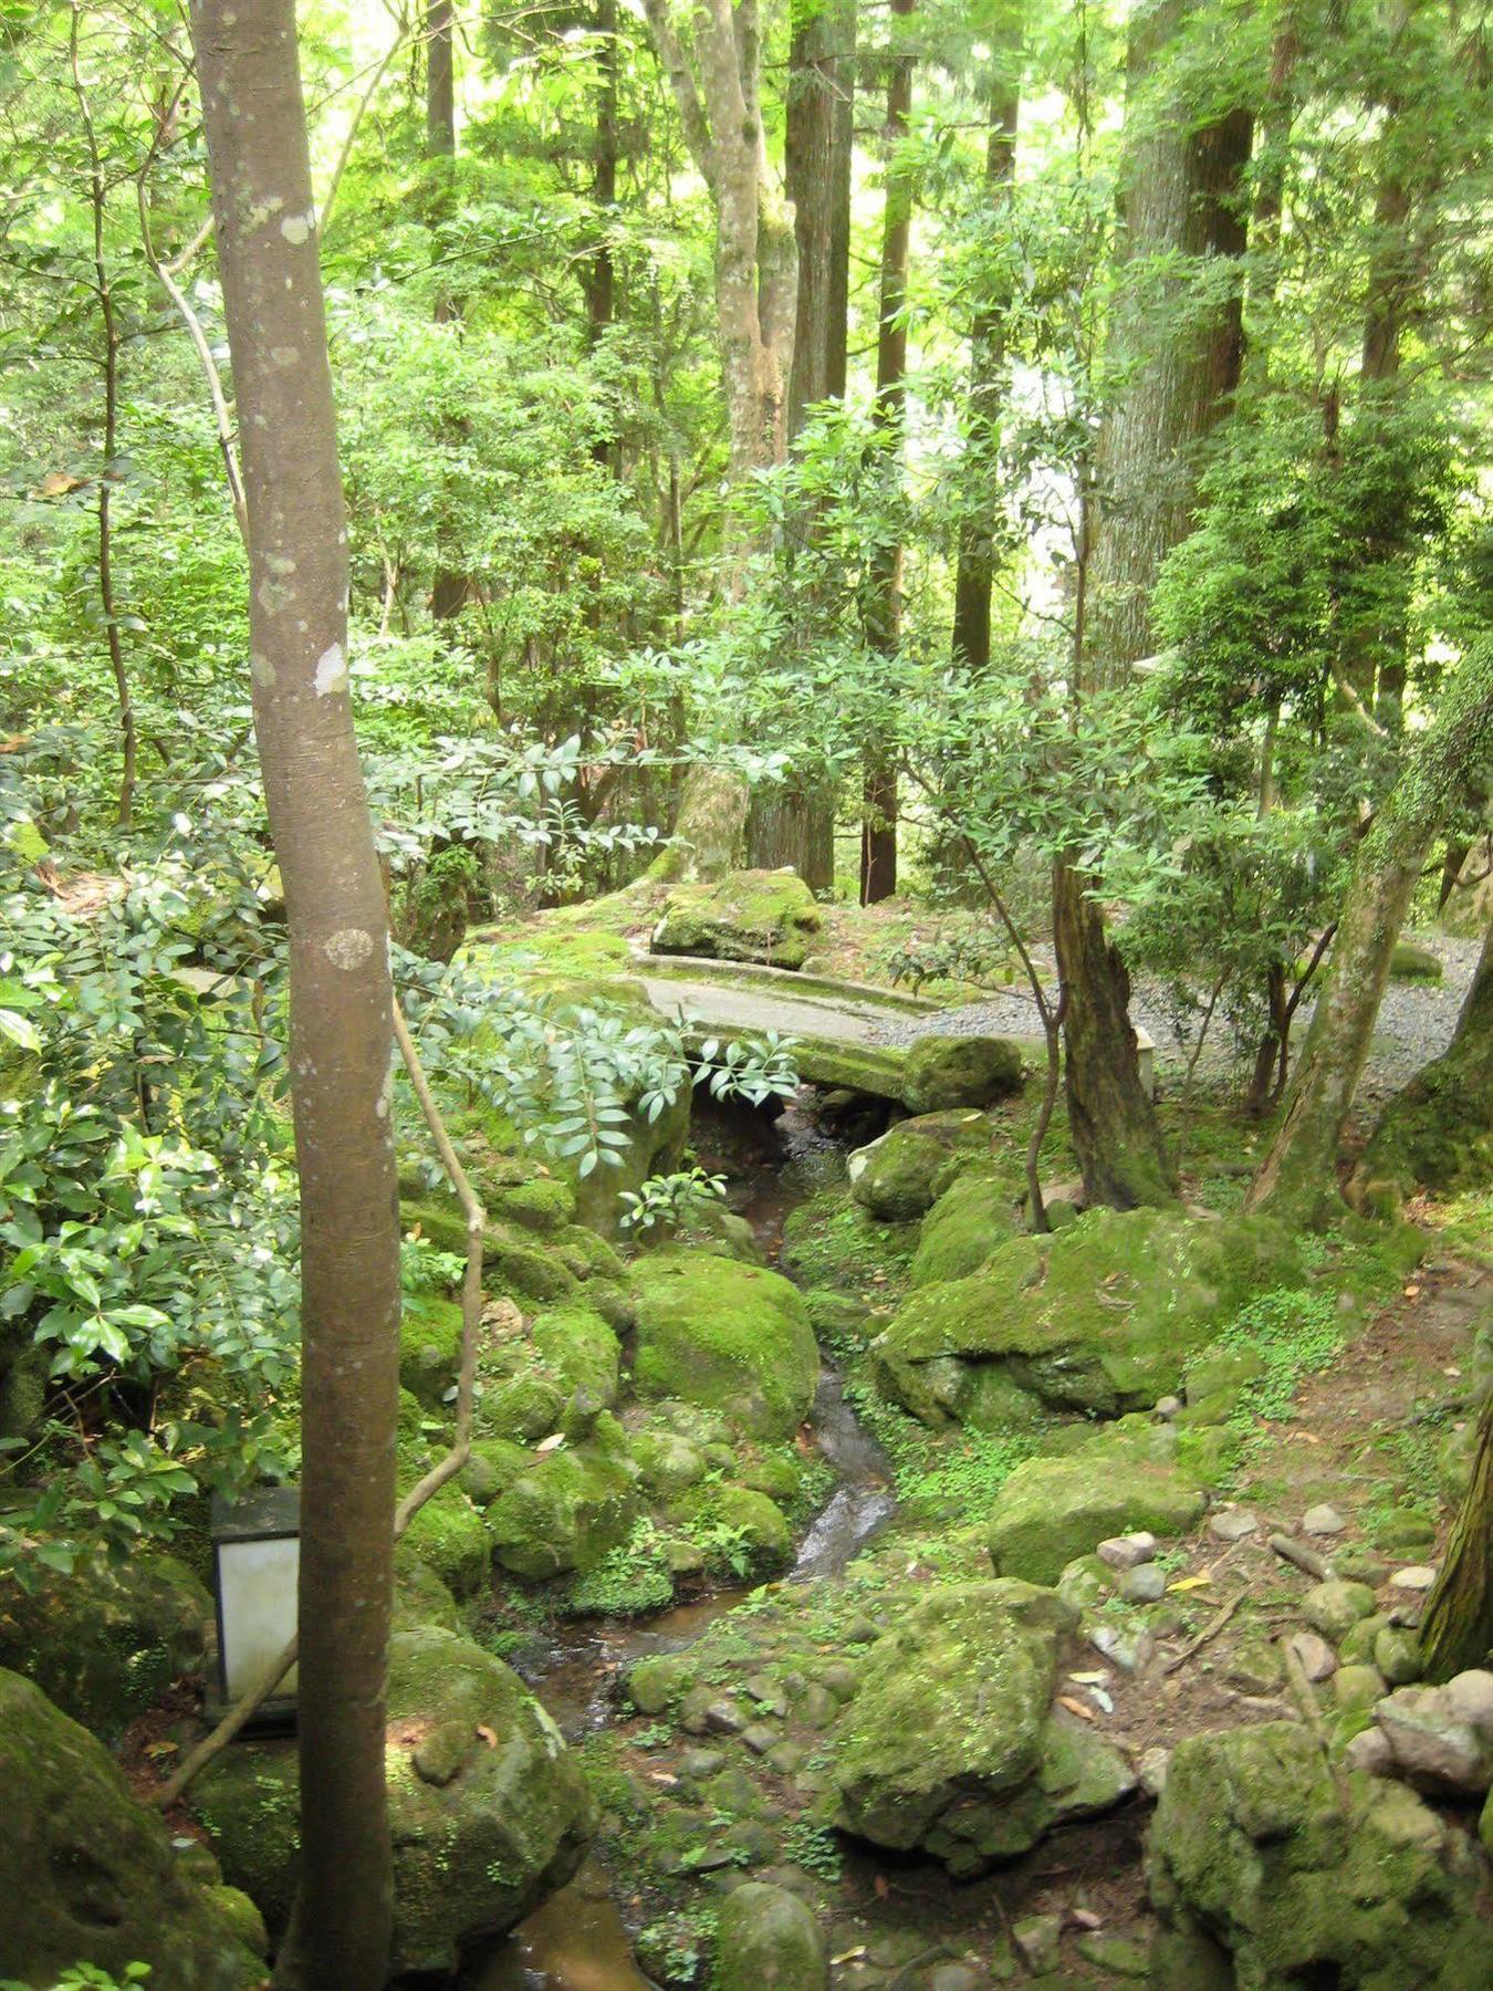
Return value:
<svg viewBox="0 0 1493 1991">
<path fill-rule="evenodd" d="M 904 22 L 916 0 L 892 0 L 892 20 Z M 896 26 L 894 26 L 896 34 Z M 906 34 L 892 46 L 886 86 L 886 201 L 882 209 L 882 281 L 876 319 L 876 406 L 872 420 L 888 438 L 884 474 L 902 480 L 902 440 L 908 408 L 908 245 L 912 239 L 912 169 L 904 141 L 912 121 L 916 58 Z M 878 546 L 868 581 L 866 635 L 896 669 L 902 647 L 902 546 Z M 888 741 L 872 739 L 862 771 L 860 904 L 874 906 L 898 888 L 898 774 Z"/>
</svg>

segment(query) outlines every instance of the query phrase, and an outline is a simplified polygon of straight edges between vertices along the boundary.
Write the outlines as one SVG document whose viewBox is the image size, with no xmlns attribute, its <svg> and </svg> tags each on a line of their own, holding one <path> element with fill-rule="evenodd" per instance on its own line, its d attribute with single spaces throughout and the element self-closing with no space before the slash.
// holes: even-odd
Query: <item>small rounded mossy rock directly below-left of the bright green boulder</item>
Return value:
<svg viewBox="0 0 1493 1991">
<path fill-rule="evenodd" d="M 516 1577 L 591 1569 L 627 1539 L 639 1509 L 637 1467 L 601 1445 L 535 1457 L 488 1507 L 488 1535 Z"/>
</svg>

